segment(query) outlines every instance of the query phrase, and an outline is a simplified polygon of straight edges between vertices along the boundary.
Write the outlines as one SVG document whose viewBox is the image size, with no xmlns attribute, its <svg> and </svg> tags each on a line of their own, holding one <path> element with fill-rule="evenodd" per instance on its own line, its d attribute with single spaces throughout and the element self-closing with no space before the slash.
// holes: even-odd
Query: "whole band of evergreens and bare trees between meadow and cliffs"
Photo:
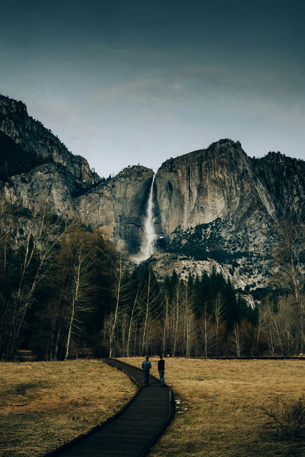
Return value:
<svg viewBox="0 0 305 457">
<path fill-rule="evenodd" d="M 304 353 L 304 227 L 279 226 L 269 293 L 255 308 L 216 269 L 158 280 L 98 230 L 45 199 L 0 197 L 0 359 L 292 356 Z"/>
</svg>

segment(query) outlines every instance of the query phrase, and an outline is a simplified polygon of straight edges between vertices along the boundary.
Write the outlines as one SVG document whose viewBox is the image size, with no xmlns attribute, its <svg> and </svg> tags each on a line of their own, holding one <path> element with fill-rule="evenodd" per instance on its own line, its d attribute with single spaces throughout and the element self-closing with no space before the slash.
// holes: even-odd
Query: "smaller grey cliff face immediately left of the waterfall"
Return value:
<svg viewBox="0 0 305 457">
<path fill-rule="evenodd" d="M 105 183 L 74 199 L 83 222 L 99 228 L 124 252 L 139 251 L 144 233 L 147 198 L 153 170 L 125 168 Z"/>
</svg>

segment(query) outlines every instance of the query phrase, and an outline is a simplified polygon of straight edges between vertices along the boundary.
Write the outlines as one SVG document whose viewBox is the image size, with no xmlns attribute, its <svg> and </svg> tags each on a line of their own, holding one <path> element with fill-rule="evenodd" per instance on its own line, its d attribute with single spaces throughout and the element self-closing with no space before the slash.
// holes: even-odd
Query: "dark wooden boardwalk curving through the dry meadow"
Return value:
<svg viewBox="0 0 305 457">
<path fill-rule="evenodd" d="M 104 361 L 125 371 L 138 385 L 137 393 L 114 416 L 45 457 L 142 457 L 172 420 L 170 387 L 160 388 L 153 376 L 143 387 L 142 370 L 115 359 Z"/>
</svg>

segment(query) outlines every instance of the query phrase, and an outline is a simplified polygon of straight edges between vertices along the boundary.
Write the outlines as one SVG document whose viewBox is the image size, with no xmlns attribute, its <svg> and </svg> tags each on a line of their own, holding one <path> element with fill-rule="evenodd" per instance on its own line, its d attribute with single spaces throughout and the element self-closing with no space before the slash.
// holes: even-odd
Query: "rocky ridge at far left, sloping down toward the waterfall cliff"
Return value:
<svg viewBox="0 0 305 457">
<path fill-rule="evenodd" d="M 19 156 L 14 160 L 23 154 L 45 162 L 26 173 L 7 178 L 7 190 L 13 201 L 18 200 L 27 206 L 35 197 L 46 195 L 60 213 L 73 204 L 72 198 L 77 192 L 89 189 L 100 181 L 100 177 L 90 170 L 86 159 L 71 154 L 41 122 L 28 116 L 21 101 L 0 96 L 0 130 L 0 147 L 8 138 L 18 149 Z M 9 149 L 9 142 L 5 144 Z"/>
</svg>

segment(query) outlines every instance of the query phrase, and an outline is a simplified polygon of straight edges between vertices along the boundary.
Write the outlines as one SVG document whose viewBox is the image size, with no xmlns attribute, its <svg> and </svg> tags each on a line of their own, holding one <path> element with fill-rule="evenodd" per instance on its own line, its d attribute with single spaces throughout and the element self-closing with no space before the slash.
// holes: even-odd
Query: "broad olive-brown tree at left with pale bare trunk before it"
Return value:
<svg viewBox="0 0 305 457">
<path fill-rule="evenodd" d="M 96 339 L 112 300 L 113 262 L 113 248 L 99 231 L 81 226 L 67 231 L 38 288 L 33 326 L 46 340 L 47 360 L 67 358 L 71 342 L 80 337 Z M 34 346 L 35 340 L 37 335 Z"/>
</svg>

